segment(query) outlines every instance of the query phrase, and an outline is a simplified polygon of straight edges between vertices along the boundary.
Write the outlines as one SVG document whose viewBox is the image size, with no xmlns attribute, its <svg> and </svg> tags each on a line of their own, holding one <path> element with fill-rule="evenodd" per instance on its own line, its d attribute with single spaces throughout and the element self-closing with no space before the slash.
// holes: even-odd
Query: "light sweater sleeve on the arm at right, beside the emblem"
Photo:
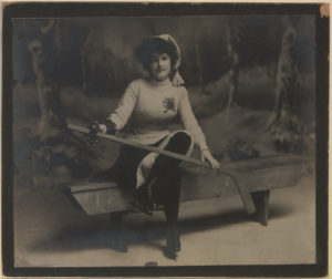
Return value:
<svg viewBox="0 0 332 279">
<path fill-rule="evenodd" d="M 200 151 L 208 148 L 207 147 L 207 143 L 206 143 L 206 138 L 205 135 L 201 132 L 201 128 L 194 115 L 190 102 L 189 102 L 189 97 L 188 97 L 188 92 L 185 87 L 183 95 L 180 97 L 179 101 L 179 116 L 181 120 L 181 123 L 185 127 L 185 130 L 187 130 L 194 137 L 194 141 L 196 144 L 198 144 Z"/>
</svg>

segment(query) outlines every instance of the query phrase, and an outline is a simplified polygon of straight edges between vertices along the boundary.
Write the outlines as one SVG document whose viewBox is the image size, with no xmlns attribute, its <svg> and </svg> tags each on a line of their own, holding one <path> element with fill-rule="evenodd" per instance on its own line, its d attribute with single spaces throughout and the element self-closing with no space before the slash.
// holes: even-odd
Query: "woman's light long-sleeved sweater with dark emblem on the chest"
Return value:
<svg viewBox="0 0 332 279">
<path fill-rule="evenodd" d="M 170 134 L 168 125 L 177 115 L 200 149 L 207 148 L 205 136 L 193 113 L 187 90 L 184 86 L 174 86 L 169 80 L 133 81 L 108 118 L 115 123 L 116 130 L 122 130 L 131 121 L 131 128 L 125 133 L 127 140 L 154 144 Z"/>
</svg>

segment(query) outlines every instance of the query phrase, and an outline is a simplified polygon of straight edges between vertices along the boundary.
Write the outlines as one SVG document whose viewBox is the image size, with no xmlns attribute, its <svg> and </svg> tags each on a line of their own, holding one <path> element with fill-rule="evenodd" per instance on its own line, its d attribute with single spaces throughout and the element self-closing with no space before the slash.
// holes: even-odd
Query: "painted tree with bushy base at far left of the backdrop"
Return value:
<svg viewBox="0 0 332 279">
<path fill-rule="evenodd" d="M 34 20 L 32 29 L 25 21 L 22 28 L 40 106 L 39 125 L 31 140 L 33 187 L 53 187 L 65 178 L 87 174 L 95 164 L 95 153 L 68 128 L 62 107 L 59 81 L 63 50 L 61 24 L 58 20 Z"/>
</svg>

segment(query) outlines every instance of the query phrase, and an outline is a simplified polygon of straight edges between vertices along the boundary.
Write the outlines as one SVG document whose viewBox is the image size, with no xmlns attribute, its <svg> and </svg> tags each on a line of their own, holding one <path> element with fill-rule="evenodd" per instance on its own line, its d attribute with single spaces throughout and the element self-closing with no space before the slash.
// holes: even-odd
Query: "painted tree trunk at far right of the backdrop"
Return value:
<svg viewBox="0 0 332 279">
<path fill-rule="evenodd" d="M 278 152 L 302 154 L 308 128 L 292 107 L 298 80 L 298 66 L 293 58 L 295 39 L 295 25 L 286 18 L 277 65 L 274 107 L 266 127 L 274 136 Z"/>
</svg>

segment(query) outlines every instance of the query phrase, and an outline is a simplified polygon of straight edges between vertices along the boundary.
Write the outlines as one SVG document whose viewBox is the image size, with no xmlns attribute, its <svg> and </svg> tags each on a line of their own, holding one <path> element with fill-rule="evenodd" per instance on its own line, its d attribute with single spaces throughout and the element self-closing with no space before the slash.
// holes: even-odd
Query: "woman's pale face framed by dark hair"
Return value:
<svg viewBox="0 0 332 279">
<path fill-rule="evenodd" d="M 170 58 L 167 53 L 153 52 L 149 62 L 149 74 L 156 81 L 165 81 L 170 73 Z"/>
</svg>

